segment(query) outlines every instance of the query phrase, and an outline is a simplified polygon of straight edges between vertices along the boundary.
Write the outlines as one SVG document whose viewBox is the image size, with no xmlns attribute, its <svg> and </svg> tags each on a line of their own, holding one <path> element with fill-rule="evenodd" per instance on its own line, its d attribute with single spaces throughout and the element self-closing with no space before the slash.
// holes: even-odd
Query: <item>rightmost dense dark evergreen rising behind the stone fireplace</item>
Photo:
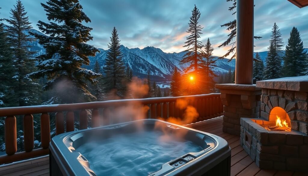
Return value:
<svg viewBox="0 0 308 176">
<path fill-rule="evenodd" d="M 286 46 L 286 54 L 283 57 L 284 76 L 305 75 L 307 51 L 304 51 L 303 42 L 296 27 L 293 27 Z"/>
</svg>

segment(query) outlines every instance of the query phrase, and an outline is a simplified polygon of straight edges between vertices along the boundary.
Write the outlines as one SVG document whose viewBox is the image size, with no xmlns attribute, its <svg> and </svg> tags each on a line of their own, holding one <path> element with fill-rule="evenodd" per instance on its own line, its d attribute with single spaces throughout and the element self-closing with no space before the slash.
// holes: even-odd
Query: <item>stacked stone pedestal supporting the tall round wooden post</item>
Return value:
<svg viewBox="0 0 308 176">
<path fill-rule="evenodd" d="M 216 84 L 224 105 L 223 132 L 240 136 L 241 118 L 260 116 L 261 88 L 255 84 Z"/>
</svg>

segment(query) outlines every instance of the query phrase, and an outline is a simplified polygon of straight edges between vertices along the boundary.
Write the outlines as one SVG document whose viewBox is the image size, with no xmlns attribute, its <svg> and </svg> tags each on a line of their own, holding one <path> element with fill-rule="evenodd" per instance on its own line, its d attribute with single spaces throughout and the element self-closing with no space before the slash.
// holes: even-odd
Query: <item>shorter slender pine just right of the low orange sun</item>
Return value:
<svg viewBox="0 0 308 176">
<path fill-rule="evenodd" d="M 211 41 L 208 38 L 205 46 L 205 50 L 202 51 L 202 56 L 204 57 L 204 72 L 205 72 L 205 93 L 211 93 L 215 89 L 215 81 L 214 77 L 217 75 L 214 73 L 213 69 L 216 67 L 216 60 L 214 60 L 213 51 L 214 48 L 212 47 Z"/>
</svg>

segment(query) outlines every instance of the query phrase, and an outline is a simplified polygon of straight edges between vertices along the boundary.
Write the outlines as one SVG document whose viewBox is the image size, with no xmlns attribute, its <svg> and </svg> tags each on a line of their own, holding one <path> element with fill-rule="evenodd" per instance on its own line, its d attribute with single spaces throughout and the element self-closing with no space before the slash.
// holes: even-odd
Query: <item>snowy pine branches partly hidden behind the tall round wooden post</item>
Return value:
<svg viewBox="0 0 308 176">
<path fill-rule="evenodd" d="M 233 11 L 234 9 L 236 9 L 236 0 L 226 0 L 226 1 L 232 2 L 232 6 L 229 7 L 229 9 L 228 9 L 230 12 Z M 232 15 L 234 15 L 234 14 L 236 14 L 236 11 L 232 13 Z M 233 55 L 231 56 L 230 59 L 234 59 L 235 56 L 236 56 L 236 52 L 235 52 L 236 41 L 233 41 L 233 39 L 236 36 L 236 19 L 234 19 L 233 21 L 230 21 L 229 23 L 225 23 L 225 24 L 221 25 L 221 27 L 227 27 L 227 30 L 230 31 L 230 34 L 228 34 L 228 39 L 218 47 L 225 47 L 227 45 L 230 45 L 231 48 L 227 51 L 227 53 L 225 55 L 221 56 L 220 59 L 229 56 L 231 53 Z M 260 39 L 262 37 L 254 36 L 253 38 L 254 39 Z"/>
</svg>

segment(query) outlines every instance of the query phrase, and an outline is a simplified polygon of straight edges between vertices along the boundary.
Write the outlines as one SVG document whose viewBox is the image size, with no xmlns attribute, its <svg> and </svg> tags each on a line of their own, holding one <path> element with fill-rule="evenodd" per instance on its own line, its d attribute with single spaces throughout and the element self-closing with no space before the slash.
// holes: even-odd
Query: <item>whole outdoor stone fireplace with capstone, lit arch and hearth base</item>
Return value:
<svg viewBox="0 0 308 176">
<path fill-rule="evenodd" d="M 261 169 L 308 171 L 308 76 L 257 81 L 260 117 L 241 118 L 241 145 Z"/>
</svg>

